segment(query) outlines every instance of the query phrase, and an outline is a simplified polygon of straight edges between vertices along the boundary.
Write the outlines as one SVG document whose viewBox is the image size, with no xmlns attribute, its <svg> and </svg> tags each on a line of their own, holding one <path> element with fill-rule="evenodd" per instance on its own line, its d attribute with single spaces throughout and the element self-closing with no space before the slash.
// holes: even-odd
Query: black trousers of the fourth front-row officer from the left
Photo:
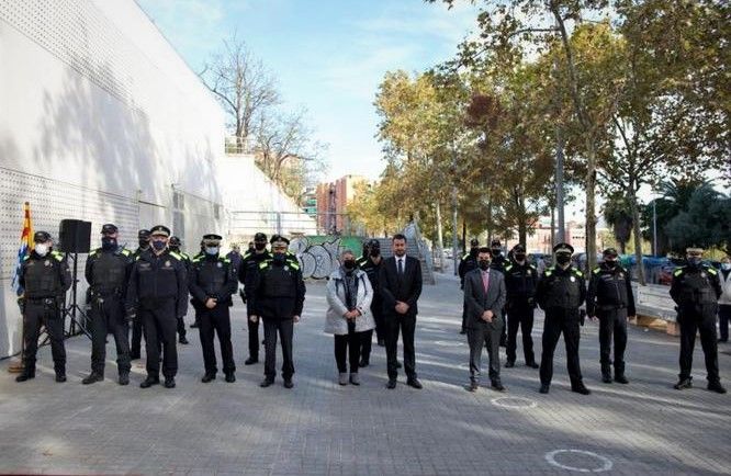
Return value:
<svg viewBox="0 0 731 476">
<path fill-rule="evenodd" d="M 236 372 L 234 347 L 230 343 L 230 314 L 228 305 L 220 304 L 213 309 L 204 307 L 195 313 L 195 319 L 199 321 L 198 330 L 201 335 L 205 373 L 215 374 L 218 371 L 216 366 L 216 351 L 213 343 L 214 335 L 218 336 L 224 374 Z"/>
</svg>

